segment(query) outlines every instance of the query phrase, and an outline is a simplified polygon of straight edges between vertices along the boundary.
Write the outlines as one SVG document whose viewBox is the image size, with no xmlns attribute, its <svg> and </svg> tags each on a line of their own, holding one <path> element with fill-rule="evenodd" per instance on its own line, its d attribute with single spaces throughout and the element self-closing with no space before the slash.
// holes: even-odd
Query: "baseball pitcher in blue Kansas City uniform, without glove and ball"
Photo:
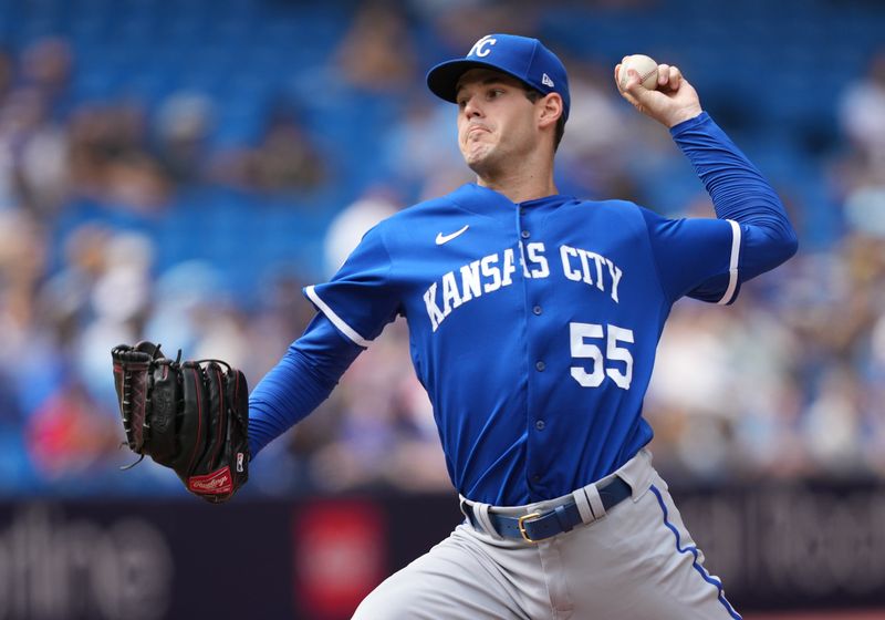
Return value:
<svg viewBox="0 0 885 620">
<path fill-rule="evenodd" d="M 740 618 L 652 466 L 643 396 L 674 302 L 733 302 L 796 238 L 679 70 L 639 78 L 615 87 L 669 130 L 715 218 L 560 195 L 565 68 L 534 39 L 489 34 L 427 75 L 457 106 L 476 183 L 382 221 L 304 289 L 319 312 L 250 396 L 251 454 L 402 316 L 465 515 L 355 618 Z"/>
</svg>

